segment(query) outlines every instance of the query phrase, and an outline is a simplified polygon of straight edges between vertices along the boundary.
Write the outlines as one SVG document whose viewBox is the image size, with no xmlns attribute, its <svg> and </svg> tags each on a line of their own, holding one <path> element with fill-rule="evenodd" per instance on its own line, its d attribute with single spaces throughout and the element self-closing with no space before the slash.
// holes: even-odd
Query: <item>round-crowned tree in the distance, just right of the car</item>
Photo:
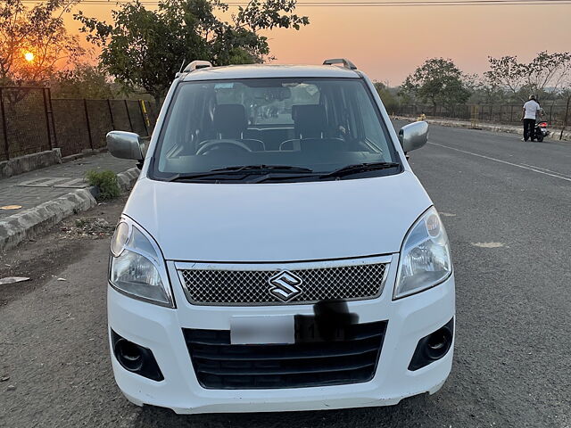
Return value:
<svg viewBox="0 0 571 428">
<path fill-rule="evenodd" d="M 462 72 L 454 62 L 432 58 L 405 79 L 401 94 L 431 103 L 434 112 L 438 104 L 451 110 L 457 104 L 466 103 L 470 96 L 462 78 Z"/>
</svg>

